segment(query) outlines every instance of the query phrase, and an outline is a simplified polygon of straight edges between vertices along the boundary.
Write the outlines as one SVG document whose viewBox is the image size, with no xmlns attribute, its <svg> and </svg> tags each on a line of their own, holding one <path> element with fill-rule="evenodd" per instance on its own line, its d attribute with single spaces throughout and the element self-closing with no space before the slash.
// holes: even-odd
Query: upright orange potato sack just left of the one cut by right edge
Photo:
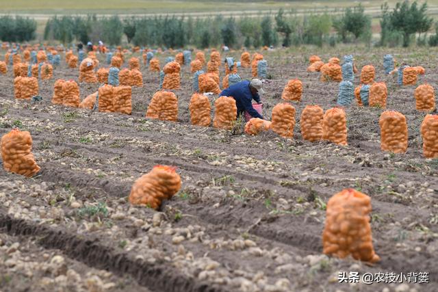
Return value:
<svg viewBox="0 0 438 292">
<path fill-rule="evenodd" d="M 381 126 L 381 149 L 404 153 L 408 148 L 408 125 L 406 117 L 398 111 L 383 111 L 378 120 Z"/>
</svg>

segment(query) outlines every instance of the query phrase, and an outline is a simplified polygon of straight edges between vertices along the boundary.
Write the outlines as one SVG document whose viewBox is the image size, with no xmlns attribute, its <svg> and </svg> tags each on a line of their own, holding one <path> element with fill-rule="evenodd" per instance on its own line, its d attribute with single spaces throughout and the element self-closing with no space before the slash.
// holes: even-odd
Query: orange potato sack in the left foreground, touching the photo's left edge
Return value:
<svg viewBox="0 0 438 292">
<path fill-rule="evenodd" d="M 27 131 L 12 129 L 1 137 L 1 159 L 7 172 L 31 177 L 40 171 L 32 150 L 32 137 Z"/>
</svg>

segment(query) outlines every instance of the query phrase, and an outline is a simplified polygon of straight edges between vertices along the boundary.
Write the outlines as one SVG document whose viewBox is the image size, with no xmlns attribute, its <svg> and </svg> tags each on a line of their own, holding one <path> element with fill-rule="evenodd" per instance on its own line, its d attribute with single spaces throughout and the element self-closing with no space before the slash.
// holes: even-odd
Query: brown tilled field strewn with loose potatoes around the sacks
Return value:
<svg viewBox="0 0 438 292">
<path fill-rule="evenodd" d="M 415 88 L 400 88 L 382 66 L 383 55 L 393 53 L 424 66 L 421 81 L 437 88 L 436 52 L 372 52 L 263 52 L 270 73 L 265 116 L 288 79 L 304 84 L 301 103 L 293 104 L 294 140 L 248 137 L 243 124 L 231 132 L 192 127 L 188 66 L 175 92 L 177 123 L 144 118 L 158 86 L 157 73 L 144 67 L 131 116 L 51 105 L 56 79 L 77 81 L 78 70 L 64 62 L 53 79 L 40 81 L 43 101 L 15 101 L 9 68 L 0 77 L 0 135 L 14 126 L 30 131 L 41 172 L 27 179 L 0 170 L 0 291 L 437 291 L 438 161 L 422 157 L 425 114 L 415 110 Z M 338 83 L 306 72 L 313 53 L 324 60 L 353 53 L 359 70 L 374 64 L 376 80 L 387 82 L 387 109 L 407 117 L 407 154 L 381 151 L 383 109 L 355 101 L 346 109 L 348 146 L 302 140 L 302 109 L 329 109 L 337 97 Z M 164 64 L 166 55 L 159 57 Z M 249 78 L 250 68 L 239 73 Z M 85 98 L 99 85 L 80 87 Z M 181 191 L 160 212 L 132 207 L 131 185 L 157 164 L 177 166 Z M 322 254 L 326 202 L 348 187 L 372 198 L 380 263 Z M 428 272 L 429 283 L 338 283 L 342 271 Z"/>
</svg>

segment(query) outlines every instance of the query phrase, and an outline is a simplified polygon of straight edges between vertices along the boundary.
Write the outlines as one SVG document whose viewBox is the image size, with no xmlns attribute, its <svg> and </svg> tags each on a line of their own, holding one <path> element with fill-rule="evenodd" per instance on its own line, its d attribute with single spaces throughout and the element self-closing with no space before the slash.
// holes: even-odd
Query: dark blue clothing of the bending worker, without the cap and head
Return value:
<svg viewBox="0 0 438 292">
<path fill-rule="evenodd" d="M 237 106 L 237 116 L 248 111 L 253 118 L 263 118 L 253 107 L 253 99 L 260 103 L 260 96 L 258 93 L 252 94 L 249 89 L 250 81 L 244 80 L 239 83 L 231 85 L 229 88 L 220 92 L 220 96 L 233 96 L 235 105 Z"/>
</svg>

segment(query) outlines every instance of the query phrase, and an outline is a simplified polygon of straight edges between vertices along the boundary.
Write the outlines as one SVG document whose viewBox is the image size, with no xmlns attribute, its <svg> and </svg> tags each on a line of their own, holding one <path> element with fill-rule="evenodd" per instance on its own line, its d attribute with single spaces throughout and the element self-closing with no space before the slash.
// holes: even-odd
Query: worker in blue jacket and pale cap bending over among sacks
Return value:
<svg viewBox="0 0 438 292">
<path fill-rule="evenodd" d="M 239 83 L 231 85 L 229 88 L 220 92 L 220 96 L 232 96 L 235 99 L 237 116 L 248 111 L 248 114 L 253 118 L 263 119 L 263 116 L 254 109 L 252 101 L 254 99 L 258 104 L 261 104 L 259 94 L 264 93 L 261 81 L 259 79 L 253 79 L 251 81 L 240 81 Z"/>
</svg>

